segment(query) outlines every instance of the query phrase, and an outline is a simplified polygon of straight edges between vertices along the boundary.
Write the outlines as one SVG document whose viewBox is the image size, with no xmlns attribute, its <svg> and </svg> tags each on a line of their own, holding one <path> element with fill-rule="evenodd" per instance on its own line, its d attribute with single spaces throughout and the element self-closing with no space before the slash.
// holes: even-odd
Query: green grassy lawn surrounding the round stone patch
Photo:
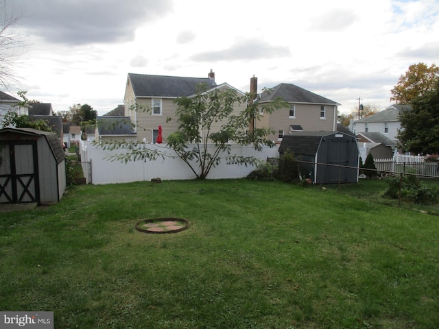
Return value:
<svg viewBox="0 0 439 329">
<path fill-rule="evenodd" d="M 437 184 L 431 182 L 430 184 Z M 55 328 L 438 328 L 438 207 L 382 180 L 78 186 L 0 214 L 0 309 Z M 176 234 L 134 230 L 180 217 Z"/>
</svg>

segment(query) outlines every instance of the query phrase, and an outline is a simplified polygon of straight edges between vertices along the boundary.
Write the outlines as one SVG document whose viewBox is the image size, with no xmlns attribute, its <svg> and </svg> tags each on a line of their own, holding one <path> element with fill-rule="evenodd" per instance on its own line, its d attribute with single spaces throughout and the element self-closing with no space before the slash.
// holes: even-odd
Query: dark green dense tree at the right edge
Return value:
<svg viewBox="0 0 439 329">
<path fill-rule="evenodd" d="M 398 134 L 403 149 L 414 154 L 439 153 L 439 80 L 434 88 L 412 101 L 412 110 L 400 114 Z"/>
</svg>

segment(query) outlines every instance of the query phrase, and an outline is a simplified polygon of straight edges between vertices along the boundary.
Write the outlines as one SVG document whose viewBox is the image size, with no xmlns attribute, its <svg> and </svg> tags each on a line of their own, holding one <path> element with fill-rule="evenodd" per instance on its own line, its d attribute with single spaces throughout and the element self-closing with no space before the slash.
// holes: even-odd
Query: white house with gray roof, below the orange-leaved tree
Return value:
<svg viewBox="0 0 439 329">
<path fill-rule="evenodd" d="M 359 132 L 380 132 L 385 137 L 398 143 L 398 131 L 401 129 L 399 114 L 405 110 L 411 110 L 408 105 L 391 105 L 385 110 L 369 115 L 351 123 L 351 130 Z"/>
</svg>

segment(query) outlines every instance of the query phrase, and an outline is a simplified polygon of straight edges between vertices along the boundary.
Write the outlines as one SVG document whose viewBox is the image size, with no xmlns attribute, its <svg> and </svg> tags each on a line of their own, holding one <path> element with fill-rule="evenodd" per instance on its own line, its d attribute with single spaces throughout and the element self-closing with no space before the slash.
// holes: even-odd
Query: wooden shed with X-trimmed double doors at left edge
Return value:
<svg viewBox="0 0 439 329">
<path fill-rule="evenodd" d="M 59 202 L 66 189 L 66 155 L 52 132 L 0 130 L 0 203 Z"/>
</svg>

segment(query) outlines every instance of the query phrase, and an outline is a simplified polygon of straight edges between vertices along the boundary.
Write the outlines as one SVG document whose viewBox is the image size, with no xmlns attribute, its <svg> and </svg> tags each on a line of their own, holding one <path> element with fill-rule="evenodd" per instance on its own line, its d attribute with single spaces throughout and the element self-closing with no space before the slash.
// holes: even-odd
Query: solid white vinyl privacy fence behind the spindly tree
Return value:
<svg viewBox="0 0 439 329">
<path fill-rule="evenodd" d="M 123 154 L 124 149 L 116 149 L 113 151 L 104 150 L 93 142 L 81 141 L 80 155 L 82 162 L 91 162 L 90 169 L 83 166 L 84 177 L 90 178 L 88 183 L 92 184 L 113 184 L 125 182 L 150 181 L 153 178 L 161 178 L 161 180 L 190 180 L 195 178 L 195 174 L 189 169 L 175 152 L 166 147 L 166 145 L 146 144 L 140 147 L 156 149 L 166 154 L 165 158 L 158 157 L 156 160 L 137 160 L 131 162 L 120 162 L 118 160 L 111 161 L 108 156 Z M 231 154 L 236 156 L 254 156 L 261 161 L 267 158 L 278 158 L 278 147 L 264 147 L 261 152 L 255 151 L 253 147 L 241 147 L 239 145 L 231 145 Z M 222 154 L 228 156 L 228 154 Z M 195 164 L 196 166 L 196 164 Z M 244 178 L 255 167 L 244 164 L 226 164 L 226 160 L 222 160 L 220 164 L 212 168 L 207 175 L 207 179 L 222 178 Z M 86 172 L 91 170 L 91 174 Z"/>
</svg>

